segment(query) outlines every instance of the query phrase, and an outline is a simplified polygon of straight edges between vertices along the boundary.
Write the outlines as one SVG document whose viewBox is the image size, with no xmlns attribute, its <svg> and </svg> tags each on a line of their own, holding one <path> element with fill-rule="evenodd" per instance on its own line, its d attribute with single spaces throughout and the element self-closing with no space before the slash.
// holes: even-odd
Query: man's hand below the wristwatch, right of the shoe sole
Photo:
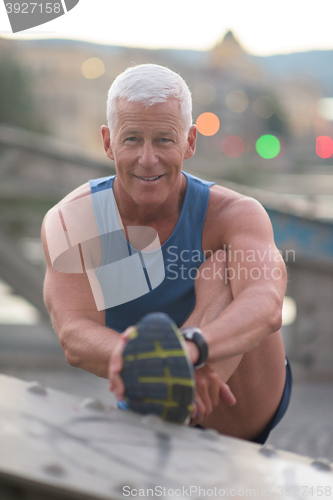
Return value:
<svg viewBox="0 0 333 500">
<path fill-rule="evenodd" d="M 201 424 L 223 401 L 228 406 L 236 404 L 229 386 L 219 379 L 208 365 L 195 370 L 196 394 L 190 425 Z"/>
</svg>

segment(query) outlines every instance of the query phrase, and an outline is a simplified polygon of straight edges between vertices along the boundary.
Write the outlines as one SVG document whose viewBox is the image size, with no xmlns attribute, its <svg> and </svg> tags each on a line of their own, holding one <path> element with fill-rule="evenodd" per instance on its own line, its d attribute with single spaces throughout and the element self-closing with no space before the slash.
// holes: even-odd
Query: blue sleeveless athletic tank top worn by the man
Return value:
<svg viewBox="0 0 333 500">
<path fill-rule="evenodd" d="M 195 277 L 197 269 L 205 260 L 202 250 L 202 231 L 209 200 L 209 188 L 214 183 L 201 180 L 185 172 L 183 175 L 187 179 L 187 185 L 177 224 L 162 247 L 158 251 L 148 252 L 146 255 L 145 252 L 138 252 L 133 248 L 121 231 L 119 212 L 113 196 L 115 176 L 89 181 L 97 227 L 100 235 L 103 235 L 103 237 L 101 236 L 102 261 L 100 268 L 95 270 L 100 283 L 104 279 L 102 286 L 111 286 L 112 293 L 117 294 L 118 289 L 121 293 L 123 277 L 111 280 L 106 273 L 103 273 L 103 266 L 107 262 L 114 262 L 118 259 L 117 262 L 120 266 L 123 261 L 123 257 L 119 256 L 119 250 L 116 250 L 116 253 L 119 254 L 118 257 L 110 258 L 110 253 L 114 252 L 115 234 L 119 236 L 120 246 L 126 247 L 127 255 L 129 255 L 126 260 L 128 265 L 131 265 L 132 262 L 130 257 L 132 257 L 133 262 L 134 257 L 137 257 L 137 262 L 141 262 L 140 266 L 142 265 L 143 268 L 143 279 L 147 281 L 146 293 L 133 300 L 105 309 L 105 325 L 109 328 L 123 332 L 128 326 L 135 325 L 142 316 L 150 312 L 164 312 L 180 327 L 194 309 Z M 111 189 L 112 192 L 103 193 L 103 191 Z M 126 272 L 128 265 L 126 264 L 126 269 L 124 267 Z M 111 281 L 115 282 L 110 284 Z M 130 287 L 130 291 L 132 288 L 135 288 L 135 283 Z"/>
</svg>

